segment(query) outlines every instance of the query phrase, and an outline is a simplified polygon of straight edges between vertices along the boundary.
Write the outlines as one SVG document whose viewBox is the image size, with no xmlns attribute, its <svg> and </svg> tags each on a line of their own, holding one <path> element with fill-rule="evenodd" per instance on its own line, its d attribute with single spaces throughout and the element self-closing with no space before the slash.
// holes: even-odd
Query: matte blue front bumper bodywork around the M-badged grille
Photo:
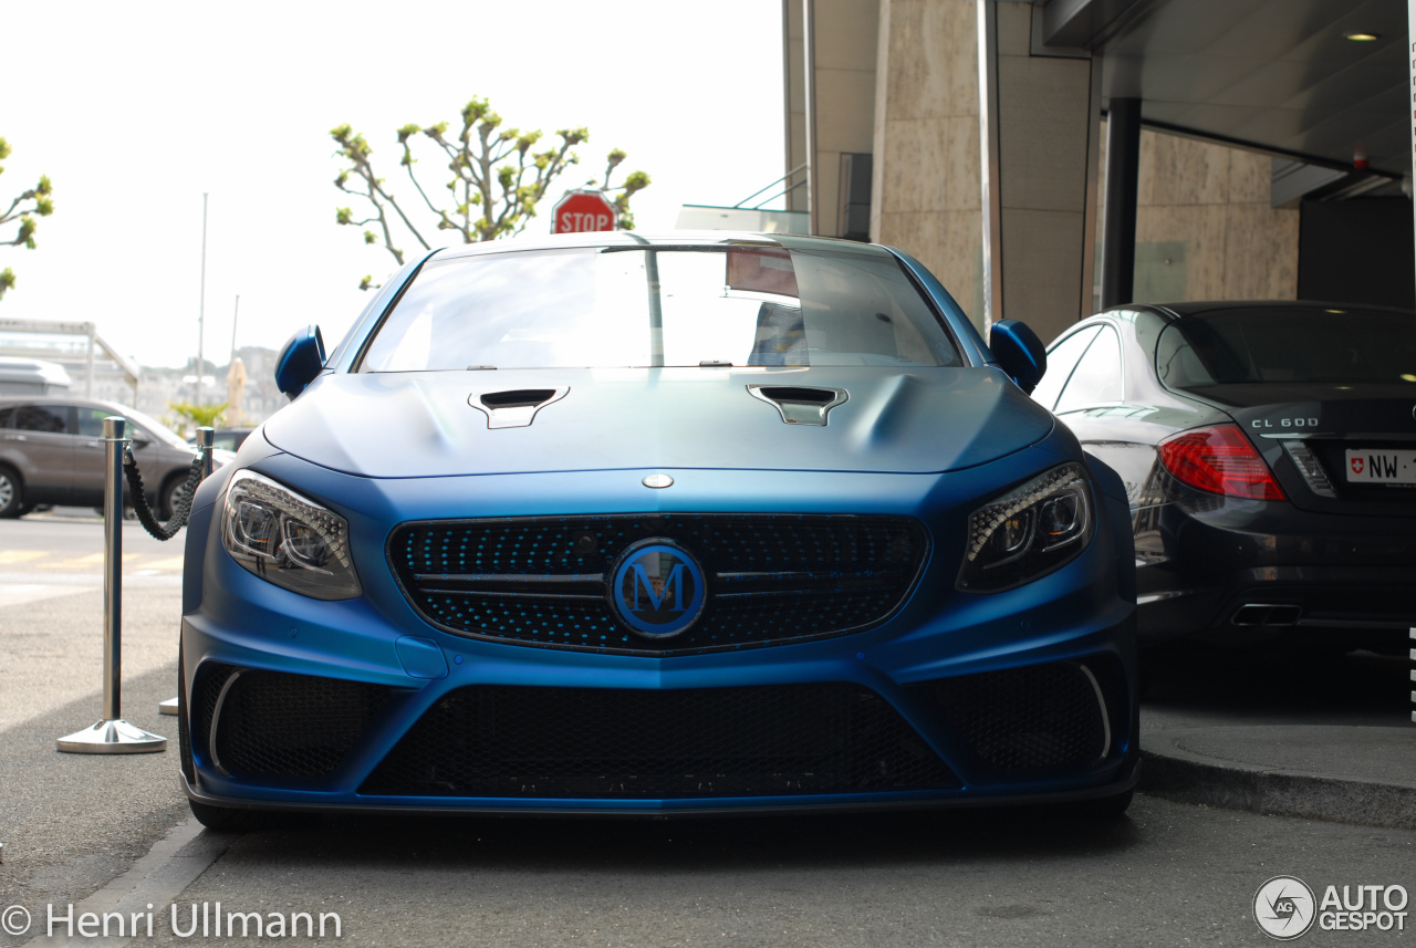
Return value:
<svg viewBox="0 0 1416 948">
<path fill-rule="evenodd" d="M 323 603 L 248 573 L 225 553 L 217 531 L 211 529 L 222 478 L 204 485 L 188 528 L 181 628 L 181 686 L 184 699 L 191 699 L 184 700 L 183 717 L 190 747 L 184 785 L 193 799 L 224 807 L 622 815 L 977 805 L 1123 792 L 1134 785 L 1138 761 L 1134 606 L 1124 569 L 1131 550 L 1124 502 L 1099 492 L 1103 529 L 1078 559 L 1049 576 L 990 596 L 959 593 L 953 587 L 961 549 L 952 548 L 961 548 L 954 539 L 963 536 L 963 519 L 974 507 L 956 498 L 987 497 L 994 485 L 1017 482 L 1052 463 L 1072 460 L 1049 454 L 1049 447 L 1028 449 L 944 477 L 675 470 L 673 491 L 640 487 L 650 471 L 375 481 L 270 454 L 252 467 L 348 518 L 364 594 Z M 445 632 L 413 613 L 381 556 L 358 556 L 360 550 L 382 553 L 384 538 L 398 522 L 581 512 L 586 497 L 598 498 L 595 507 L 600 512 L 841 512 L 841 498 L 850 497 L 854 514 L 919 516 L 929 525 L 935 548 L 909 600 L 877 628 L 800 644 L 675 658 L 537 648 Z M 416 654 L 409 651 L 409 638 L 419 640 Z M 225 724 L 215 723 L 219 712 L 214 716 L 210 707 L 215 690 L 204 679 L 204 669 L 217 668 L 224 675 L 229 675 L 228 669 L 253 669 L 287 676 L 280 681 L 300 676 L 312 682 L 353 682 L 381 689 L 385 698 L 360 723 L 347 753 L 326 773 L 295 775 L 273 773 L 279 770 L 275 767 L 272 773 L 253 774 L 212 760 L 210 744 Z M 1018 727 L 1037 733 L 1014 734 L 1011 740 L 1027 744 L 1058 740 L 1056 734 L 1044 733 L 1056 709 L 1044 706 L 1054 699 L 1038 693 L 1034 686 L 1038 681 L 1055 685 L 1054 698 L 1066 707 L 1076 706 L 1078 695 L 1083 693 L 1092 695 L 1086 700 L 1096 700 L 1093 710 L 1106 734 L 1093 741 L 1095 758 L 1034 765 L 1035 760 L 1046 758 L 1044 751 L 1042 758 L 1024 754 L 1022 765 L 1001 765 L 1000 761 L 1017 764 L 1018 758 L 1000 757 L 997 734 L 986 733 L 987 720 L 980 723 L 977 713 L 960 719 L 957 699 L 946 695 L 953 685 L 942 685 L 973 682 L 973 690 L 964 693 L 976 696 L 998 688 L 1018 692 L 1021 685 L 1022 698 L 1015 703 L 1037 706 L 1027 715 L 1020 712 L 1018 720 L 1024 723 Z M 813 688 L 848 688 L 857 698 L 878 700 L 885 709 L 881 713 L 903 729 L 903 743 L 915 747 L 910 753 L 936 757 L 943 768 L 939 773 L 947 777 L 926 781 L 927 785 L 875 782 L 868 791 L 835 787 L 828 792 L 797 788 L 671 797 L 636 794 L 623 787 L 623 792 L 606 788 L 603 794 L 581 795 L 538 794 L 534 788 L 500 795 L 371 790 L 378 782 L 374 777 L 381 763 L 425 716 L 476 689 L 555 689 L 558 695 L 593 690 L 592 698 L 610 702 L 605 705 L 612 715 L 607 727 L 622 729 L 617 733 L 633 740 L 644 729 L 633 720 L 616 720 L 613 712 L 641 706 L 634 703 L 637 693 L 654 692 L 664 699 L 654 707 L 671 707 L 678 698 L 711 698 L 731 689 L 780 698 L 814 693 Z M 616 705 L 620 698 L 630 703 Z M 838 712 L 838 705 L 830 707 Z M 549 726 L 573 723 L 556 719 Z M 750 724 L 741 729 L 745 734 L 756 730 L 770 729 L 767 723 L 762 729 Z M 460 733 L 446 740 L 464 740 Z M 279 733 L 266 737 L 272 746 L 280 743 Z M 691 741 L 688 734 L 685 743 Z M 773 767 L 780 770 L 772 763 L 759 770 Z"/>
</svg>

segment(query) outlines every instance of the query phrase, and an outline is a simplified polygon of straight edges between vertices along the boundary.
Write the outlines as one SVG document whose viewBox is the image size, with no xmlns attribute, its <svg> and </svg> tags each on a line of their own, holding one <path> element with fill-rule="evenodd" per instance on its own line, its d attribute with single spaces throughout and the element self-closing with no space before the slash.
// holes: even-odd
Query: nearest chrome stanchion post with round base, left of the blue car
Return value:
<svg viewBox="0 0 1416 948">
<path fill-rule="evenodd" d="M 103 720 L 58 740 L 71 754 L 142 754 L 167 750 L 167 739 L 123 720 L 123 446 L 120 416 L 103 419 Z"/>
</svg>

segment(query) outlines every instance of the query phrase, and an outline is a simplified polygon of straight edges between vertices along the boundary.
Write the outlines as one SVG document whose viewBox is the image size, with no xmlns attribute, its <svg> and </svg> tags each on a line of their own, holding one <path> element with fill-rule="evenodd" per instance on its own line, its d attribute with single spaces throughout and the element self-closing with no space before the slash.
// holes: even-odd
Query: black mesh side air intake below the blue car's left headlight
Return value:
<svg viewBox="0 0 1416 948">
<path fill-rule="evenodd" d="M 222 686 L 239 674 L 227 696 Z M 234 777 L 324 777 L 338 767 L 388 700 L 391 688 L 334 678 L 202 665 L 194 720 L 207 747 L 218 710 L 215 754 Z"/>
</svg>

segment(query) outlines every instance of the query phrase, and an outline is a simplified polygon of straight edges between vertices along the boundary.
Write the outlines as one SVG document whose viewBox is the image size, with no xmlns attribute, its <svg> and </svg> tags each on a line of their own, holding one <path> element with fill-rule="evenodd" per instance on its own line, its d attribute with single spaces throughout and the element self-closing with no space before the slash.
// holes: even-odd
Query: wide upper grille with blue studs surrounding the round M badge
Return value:
<svg viewBox="0 0 1416 948">
<path fill-rule="evenodd" d="M 707 576 L 702 617 L 664 640 L 620 624 L 606 576 L 664 538 Z M 388 542 L 404 594 L 459 635 L 521 645 L 687 655 L 855 632 L 901 607 L 929 552 L 908 516 L 630 514 L 404 524 Z"/>
</svg>

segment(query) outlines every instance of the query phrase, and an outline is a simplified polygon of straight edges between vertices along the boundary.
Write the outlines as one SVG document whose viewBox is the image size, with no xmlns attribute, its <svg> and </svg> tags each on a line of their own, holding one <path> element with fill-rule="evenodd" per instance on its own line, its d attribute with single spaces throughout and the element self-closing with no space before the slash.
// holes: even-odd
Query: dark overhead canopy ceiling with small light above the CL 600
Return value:
<svg viewBox="0 0 1416 948">
<path fill-rule="evenodd" d="M 1102 52 L 1144 123 L 1410 174 L 1405 0 L 1038 0 L 1034 37 Z"/>
</svg>

